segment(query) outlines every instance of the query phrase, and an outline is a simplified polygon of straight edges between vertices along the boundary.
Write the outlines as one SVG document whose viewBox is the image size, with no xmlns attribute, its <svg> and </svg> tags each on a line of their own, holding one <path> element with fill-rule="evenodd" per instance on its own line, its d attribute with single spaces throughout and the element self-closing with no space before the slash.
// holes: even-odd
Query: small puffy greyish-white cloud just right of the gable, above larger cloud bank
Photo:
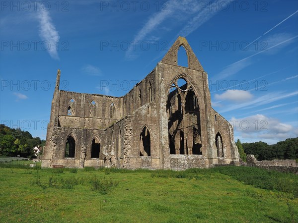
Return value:
<svg viewBox="0 0 298 223">
<path fill-rule="evenodd" d="M 216 100 L 227 100 L 232 102 L 247 102 L 253 98 L 253 95 L 248 91 L 243 90 L 227 90 L 223 94 L 215 95 Z"/>
</svg>

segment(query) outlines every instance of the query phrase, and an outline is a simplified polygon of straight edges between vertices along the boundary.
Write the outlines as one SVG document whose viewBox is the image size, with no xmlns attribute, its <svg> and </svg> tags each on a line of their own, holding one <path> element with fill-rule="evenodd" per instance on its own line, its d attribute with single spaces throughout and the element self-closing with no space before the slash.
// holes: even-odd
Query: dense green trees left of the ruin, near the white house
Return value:
<svg viewBox="0 0 298 223">
<path fill-rule="evenodd" d="M 0 156 L 32 158 L 33 148 L 45 145 L 45 140 L 39 137 L 33 138 L 28 131 L 20 128 L 9 128 L 0 124 Z"/>
</svg>

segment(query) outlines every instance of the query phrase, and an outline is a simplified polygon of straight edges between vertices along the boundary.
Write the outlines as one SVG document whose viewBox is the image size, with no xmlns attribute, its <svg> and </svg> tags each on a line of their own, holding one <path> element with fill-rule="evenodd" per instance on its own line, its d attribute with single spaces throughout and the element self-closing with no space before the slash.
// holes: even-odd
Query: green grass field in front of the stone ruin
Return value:
<svg viewBox="0 0 298 223">
<path fill-rule="evenodd" d="M 294 223 L 298 175 L 253 167 L 1 167 L 0 222 Z"/>
</svg>

